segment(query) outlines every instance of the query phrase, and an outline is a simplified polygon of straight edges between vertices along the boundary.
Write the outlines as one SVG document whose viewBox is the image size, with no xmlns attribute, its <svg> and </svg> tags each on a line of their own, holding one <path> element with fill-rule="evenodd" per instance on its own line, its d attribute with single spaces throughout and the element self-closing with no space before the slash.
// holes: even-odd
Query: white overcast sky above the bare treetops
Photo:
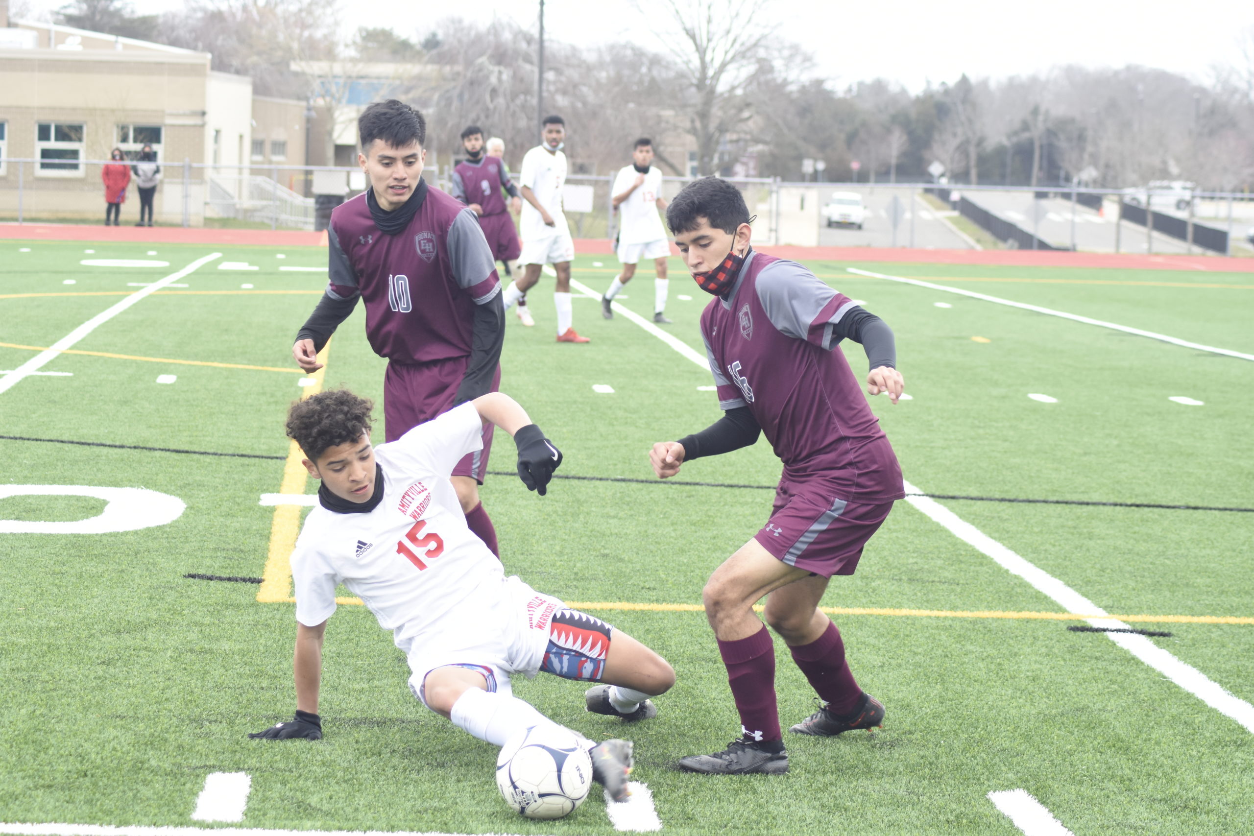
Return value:
<svg viewBox="0 0 1254 836">
<path fill-rule="evenodd" d="M 63 0 L 61 0 L 63 1 Z M 36 6 L 61 1 L 36 0 Z M 179 0 L 133 0 L 143 13 Z M 836 88 L 884 76 L 917 93 L 930 81 L 1032 73 L 1058 64 L 1142 64 L 1211 78 L 1216 63 L 1240 61 L 1238 35 L 1254 26 L 1254 0 L 771 0 L 781 38 L 800 43 Z M 443 4 L 340 0 L 346 31 L 390 26 L 403 35 L 438 29 Z M 538 0 L 477 0 L 453 6 L 475 20 L 512 18 L 534 26 Z M 545 0 L 545 33 L 576 44 L 655 43 L 666 26 L 657 0 Z M 640 9 L 645 9 L 641 11 Z M 415 23 L 415 10 L 425 18 Z"/>
</svg>

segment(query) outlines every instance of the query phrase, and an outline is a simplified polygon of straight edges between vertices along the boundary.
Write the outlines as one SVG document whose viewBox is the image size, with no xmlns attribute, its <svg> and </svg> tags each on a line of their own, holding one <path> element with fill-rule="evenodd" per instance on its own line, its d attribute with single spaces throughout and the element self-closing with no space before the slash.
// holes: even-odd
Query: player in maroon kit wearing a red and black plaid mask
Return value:
<svg viewBox="0 0 1254 836">
<path fill-rule="evenodd" d="M 902 395 L 893 332 L 809 269 L 755 252 L 740 192 L 717 178 L 690 183 L 666 221 L 683 262 L 715 298 L 701 315 L 724 417 L 680 441 L 655 444 L 655 473 L 754 444 L 760 432 L 784 460 L 770 520 L 706 583 L 706 618 L 719 640 L 740 713 L 741 737 L 725 751 L 682 758 L 690 772 L 788 772 L 775 703 L 775 648 L 752 605 L 819 694 L 819 709 L 793 726 L 833 736 L 873 728 L 884 707 L 854 681 L 835 624 L 819 612 L 831 575 L 850 575 L 893 501 L 902 470 L 858 379 L 836 348 L 860 342 L 867 391 Z"/>
</svg>

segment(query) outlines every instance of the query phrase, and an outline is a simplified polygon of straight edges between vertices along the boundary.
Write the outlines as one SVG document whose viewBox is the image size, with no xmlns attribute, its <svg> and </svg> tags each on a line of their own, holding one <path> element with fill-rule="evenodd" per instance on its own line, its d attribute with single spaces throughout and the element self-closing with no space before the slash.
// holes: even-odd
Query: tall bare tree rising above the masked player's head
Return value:
<svg viewBox="0 0 1254 836">
<path fill-rule="evenodd" d="M 662 43 L 687 86 L 687 132 L 697 144 L 697 170 L 712 174 L 726 135 L 751 117 L 746 83 L 775 28 L 764 23 L 767 0 L 663 0 L 678 38 Z"/>
</svg>

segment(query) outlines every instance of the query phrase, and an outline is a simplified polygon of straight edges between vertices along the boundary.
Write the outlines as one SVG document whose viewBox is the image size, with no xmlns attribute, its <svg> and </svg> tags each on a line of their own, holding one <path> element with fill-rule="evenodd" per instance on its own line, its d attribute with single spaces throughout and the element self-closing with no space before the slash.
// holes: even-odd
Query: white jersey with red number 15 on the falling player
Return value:
<svg viewBox="0 0 1254 836">
<path fill-rule="evenodd" d="M 375 447 L 384 499 L 372 511 L 314 506 L 292 554 L 296 620 L 325 622 L 344 583 L 406 656 L 449 637 L 474 644 L 515 629 L 500 560 L 466 528 L 449 481 L 483 447 L 482 429 L 474 405 L 463 404 Z"/>
</svg>

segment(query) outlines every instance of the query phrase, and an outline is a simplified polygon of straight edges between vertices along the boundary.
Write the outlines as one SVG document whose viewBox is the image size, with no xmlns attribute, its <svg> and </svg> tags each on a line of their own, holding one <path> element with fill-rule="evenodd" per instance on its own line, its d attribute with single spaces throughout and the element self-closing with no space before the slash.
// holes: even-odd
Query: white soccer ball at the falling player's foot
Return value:
<svg viewBox="0 0 1254 836">
<path fill-rule="evenodd" d="M 592 758 L 583 741 L 561 726 L 532 726 L 497 757 L 497 788 L 528 818 L 561 818 L 592 787 Z"/>
</svg>

